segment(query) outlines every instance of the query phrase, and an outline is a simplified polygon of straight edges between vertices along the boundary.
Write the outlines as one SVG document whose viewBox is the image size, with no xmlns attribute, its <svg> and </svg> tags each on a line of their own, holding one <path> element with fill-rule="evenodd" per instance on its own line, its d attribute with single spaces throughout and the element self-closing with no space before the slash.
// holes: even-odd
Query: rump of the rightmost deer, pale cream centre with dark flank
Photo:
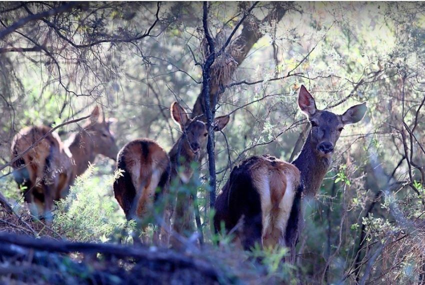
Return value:
<svg viewBox="0 0 425 285">
<path fill-rule="evenodd" d="M 229 231 L 241 220 L 236 234 L 245 249 L 255 242 L 264 246 L 284 245 L 287 221 L 299 185 L 299 170 L 290 163 L 269 155 L 243 160 L 232 169 L 217 196 L 216 231 L 220 230 L 221 222 Z"/>
</svg>

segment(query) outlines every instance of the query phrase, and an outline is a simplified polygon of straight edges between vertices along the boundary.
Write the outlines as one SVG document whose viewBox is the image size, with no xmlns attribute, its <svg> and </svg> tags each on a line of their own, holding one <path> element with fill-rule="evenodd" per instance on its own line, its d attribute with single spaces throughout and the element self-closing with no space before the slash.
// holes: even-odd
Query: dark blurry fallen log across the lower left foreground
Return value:
<svg viewBox="0 0 425 285">
<path fill-rule="evenodd" d="M 218 284 L 233 283 L 235 279 L 205 254 L 167 248 L 36 239 L 4 233 L 0 233 L 0 244 L 0 276 L 9 278 L 0 278 L 0 283 L 31 283 L 39 278 L 38 281 L 46 283 Z M 68 254 L 78 255 L 80 260 L 73 260 Z"/>
</svg>

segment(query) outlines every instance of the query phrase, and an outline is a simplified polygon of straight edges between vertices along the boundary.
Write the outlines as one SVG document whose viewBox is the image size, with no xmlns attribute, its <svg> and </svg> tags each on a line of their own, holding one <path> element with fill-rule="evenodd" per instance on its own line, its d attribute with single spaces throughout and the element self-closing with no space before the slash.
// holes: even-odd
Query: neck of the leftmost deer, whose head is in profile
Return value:
<svg viewBox="0 0 425 285">
<path fill-rule="evenodd" d="M 94 143 L 88 133 L 80 131 L 69 138 L 68 147 L 72 153 L 73 159 L 73 176 L 78 176 L 84 173 L 88 168 L 88 163 L 94 161 Z"/>
</svg>

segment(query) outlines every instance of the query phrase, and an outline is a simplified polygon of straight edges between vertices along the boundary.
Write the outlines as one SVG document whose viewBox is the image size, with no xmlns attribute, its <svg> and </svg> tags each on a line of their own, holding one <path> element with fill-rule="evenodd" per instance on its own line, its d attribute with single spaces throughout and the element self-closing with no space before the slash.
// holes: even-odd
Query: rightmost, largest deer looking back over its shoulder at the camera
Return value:
<svg viewBox="0 0 425 285">
<path fill-rule="evenodd" d="M 298 106 L 310 124 L 298 156 L 291 163 L 270 155 L 242 160 L 231 170 L 214 204 L 216 233 L 222 225 L 225 232 L 237 228 L 234 240 L 244 250 L 255 243 L 262 248 L 287 246 L 291 263 L 303 227 L 302 196 L 316 194 L 343 126 L 360 121 L 367 109 L 365 102 L 341 115 L 317 109 L 304 85 Z"/>
</svg>

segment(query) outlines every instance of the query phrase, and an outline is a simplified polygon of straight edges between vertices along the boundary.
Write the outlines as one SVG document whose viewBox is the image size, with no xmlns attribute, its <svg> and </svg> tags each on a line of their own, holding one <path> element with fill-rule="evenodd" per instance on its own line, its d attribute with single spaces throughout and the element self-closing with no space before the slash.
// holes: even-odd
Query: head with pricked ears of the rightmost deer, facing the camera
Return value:
<svg viewBox="0 0 425 285">
<path fill-rule="evenodd" d="M 344 125 L 361 120 L 366 112 L 366 102 L 354 105 L 343 114 L 319 110 L 313 96 L 301 85 L 298 96 L 298 106 L 307 115 L 311 124 L 311 147 L 319 156 L 329 158 L 339 138 Z"/>
</svg>

